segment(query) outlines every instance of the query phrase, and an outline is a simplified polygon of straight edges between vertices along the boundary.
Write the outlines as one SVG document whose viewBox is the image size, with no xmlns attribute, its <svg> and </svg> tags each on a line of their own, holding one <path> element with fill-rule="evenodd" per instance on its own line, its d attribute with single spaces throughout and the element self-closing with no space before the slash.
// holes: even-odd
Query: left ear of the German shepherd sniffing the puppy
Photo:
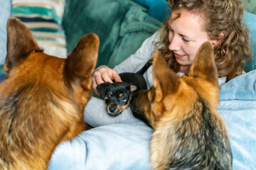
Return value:
<svg viewBox="0 0 256 170">
<path fill-rule="evenodd" d="M 161 52 L 156 50 L 153 60 L 153 82 L 155 90 L 155 101 L 163 99 L 167 91 L 176 91 L 178 77 L 175 72 L 167 66 Z"/>
</svg>

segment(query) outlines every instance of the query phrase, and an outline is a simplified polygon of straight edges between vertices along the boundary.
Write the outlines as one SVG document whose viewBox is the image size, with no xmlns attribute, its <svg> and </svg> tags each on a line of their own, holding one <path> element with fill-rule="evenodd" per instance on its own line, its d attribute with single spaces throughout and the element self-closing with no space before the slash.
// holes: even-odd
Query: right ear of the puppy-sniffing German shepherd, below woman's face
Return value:
<svg viewBox="0 0 256 170">
<path fill-rule="evenodd" d="M 204 42 L 196 52 L 189 72 L 189 77 L 206 79 L 218 86 L 218 71 L 214 60 L 213 47 L 210 42 Z"/>
</svg>

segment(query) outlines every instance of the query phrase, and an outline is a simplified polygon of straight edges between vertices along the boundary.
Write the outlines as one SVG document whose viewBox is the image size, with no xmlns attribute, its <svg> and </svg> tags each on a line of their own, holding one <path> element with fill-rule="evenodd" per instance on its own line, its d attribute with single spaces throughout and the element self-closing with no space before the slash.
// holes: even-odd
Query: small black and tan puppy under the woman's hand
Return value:
<svg viewBox="0 0 256 170">
<path fill-rule="evenodd" d="M 97 86 L 98 93 L 105 99 L 106 110 L 110 116 L 119 115 L 129 106 L 129 97 L 132 92 L 146 89 L 143 74 L 150 66 L 151 60 L 137 73 L 124 72 L 119 74 L 122 82 L 105 82 Z"/>
</svg>

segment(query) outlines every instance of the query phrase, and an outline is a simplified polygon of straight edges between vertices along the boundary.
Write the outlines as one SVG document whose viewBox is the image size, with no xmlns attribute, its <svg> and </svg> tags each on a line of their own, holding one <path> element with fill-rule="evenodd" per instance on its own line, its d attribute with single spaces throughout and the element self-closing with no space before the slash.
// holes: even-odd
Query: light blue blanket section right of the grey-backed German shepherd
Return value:
<svg viewBox="0 0 256 170">
<path fill-rule="evenodd" d="M 256 70 L 220 87 L 218 110 L 228 128 L 233 170 L 256 169 Z"/>
</svg>

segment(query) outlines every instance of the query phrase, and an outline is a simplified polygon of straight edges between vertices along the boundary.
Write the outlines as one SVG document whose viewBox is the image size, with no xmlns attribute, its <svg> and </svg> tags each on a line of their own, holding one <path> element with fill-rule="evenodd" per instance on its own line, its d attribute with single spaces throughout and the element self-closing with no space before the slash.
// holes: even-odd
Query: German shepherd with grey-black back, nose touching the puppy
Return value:
<svg viewBox="0 0 256 170">
<path fill-rule="evenodd" d="M 217 111 L 218 74 L 213 47 L 199 48 L 188 75 L 177 77 L 156 51 L 154 86 L 132 95 L 136 118 L 154 129 L 153 169 L 232 169 L 227 131 Z"/>
</svg>

